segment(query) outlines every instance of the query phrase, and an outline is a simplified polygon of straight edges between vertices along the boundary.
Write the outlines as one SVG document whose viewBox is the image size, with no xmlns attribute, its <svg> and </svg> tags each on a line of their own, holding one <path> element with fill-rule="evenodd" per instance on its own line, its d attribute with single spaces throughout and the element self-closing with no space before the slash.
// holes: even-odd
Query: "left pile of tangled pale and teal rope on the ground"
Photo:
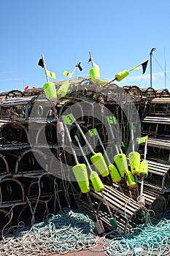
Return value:
<svg viewBox="0 0 170 256">
<path fill-rule="evenodd" d="M 63 208 L 43 222 L 28 227 L 18 225 L 0 242 L 0 255 L 51 255 L 90 249 L 96 246 L 96 229 L 90 215 Z"/>
</svg>

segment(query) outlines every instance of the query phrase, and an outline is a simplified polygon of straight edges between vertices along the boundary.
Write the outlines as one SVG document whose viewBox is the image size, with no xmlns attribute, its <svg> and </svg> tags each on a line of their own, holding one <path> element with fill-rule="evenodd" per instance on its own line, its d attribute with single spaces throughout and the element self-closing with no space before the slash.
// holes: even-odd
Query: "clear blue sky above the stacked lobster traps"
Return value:
<svg viewBox="0 0 170 256">
<path fill-rule="evenodd" d="M 42 87 L 42 53 L 57 80 L 81 61 L 87 76 L 89 50 L 101 77 L 111 80 L 152 55 L 152 87 L 170 90 L 170 1 L 5 0 L 0 1 L 0 91 Z M 165 68 L 166 65 L 166 68 Z M 166 79 L 165 79 L 166 70 Z M 53 81 L 53 80 L 52 80 Z M 150 87 L 150 62 L 144 75 L 132 71 L 117 85 Z"/>
</svg>

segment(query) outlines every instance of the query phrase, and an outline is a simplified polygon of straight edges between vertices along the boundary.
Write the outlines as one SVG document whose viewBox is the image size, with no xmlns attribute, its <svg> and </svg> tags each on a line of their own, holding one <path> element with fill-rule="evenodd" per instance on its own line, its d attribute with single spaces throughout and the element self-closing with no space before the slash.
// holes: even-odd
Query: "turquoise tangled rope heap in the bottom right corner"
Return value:
<svg viewBox="0 0 170 256">
<path fill-rule="evenodd" d="M 116 232 L 106 234 L 107 237 L 112 238 L 107 241 L 107 255 L 170 255 L 170 219 L 168 218 L 169 212 L 166 212 L 161 220 L 153 219 L 147 225 L 139 225 L 131 234 Z"/>
</svg>

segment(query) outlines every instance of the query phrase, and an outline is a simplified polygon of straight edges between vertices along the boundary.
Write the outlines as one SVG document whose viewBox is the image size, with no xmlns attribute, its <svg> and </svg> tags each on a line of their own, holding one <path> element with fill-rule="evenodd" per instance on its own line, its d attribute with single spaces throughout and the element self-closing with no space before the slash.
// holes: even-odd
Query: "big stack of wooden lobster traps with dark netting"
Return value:
<svg viewBox="0 0 170 256">
<path fill-rule="evenodd" d="M 61 82 L 56 82 L 56 89 Z M 152 92 L 152 97 L 151 97 Z M 162 94 L 161 94 L 162 92 Z M 65 97 L 56 101 L 48 99 L 42 88 L 26 91 L 7 91 L 0 94 L 0 230 L 12 229 L 19 222 L 31 225 L 42 220 L 47 214 L 56 214 L 66 206 L 66 193 L 72 197 L 72 207 L 88 211 L 94 219 L 99 219 L 109 230 L 119 228 L 128 232 L 132 227 L 147 222 L 152 214 L 161 214 L 169 208 L 169 91 L 141 90 L 137 86 L 117 88 L 111 84 L 104 91 L 98 91 L 98 83 L 90 79 L 72 80 L 71 89 Z M 153 94 L 154 93 L 154 94 Z M 153 97 L 154 95 L 154 97 Z M 166 95 L 166 97 L 164 96 Z M 76 106 L 75 108 L 74 105 Z M 113 182 L 110 174 L 101 176 L 104 189 L 96 192 L 90 183 L 88 195 L 82 193 L 77 181 L 74 181 L 72 166 L 75 159 L 70 146 L 69 137 L 58 133 L 62 116 L 72 113 L 77 124 L 86 134 L 97 129 L 102 143 L 107 148 L 110 162 L 113 163 L 115 141 L 120 143 L 120 150 L 127 153 L 130 140 L 128 114 L 132 105 L 139 113 L 142 125 L 142 136 L 147 135 L 148 176 L 144 178 L 144 204 L 138 200 L 142 186 L 140 177 L 136 178 L 136 186 L 129 187 L 125 177 L 120 182 Z M 97 118 L 94 113 L 101 111 Z M 119 132 L 115 129 L 115 140 L 107 134 L 104 124 L 104 109 L 109 111 L 119 124 Z M 131 115 L 131 121 L 136 124 Z M 136 124 L 137 125 L 137 124 Z M 77 126 L 72 122 L 69 127 L 72 146 L 76 148 L 75 135 L 85 146 Z M 93 144 L 93 138 L 87 138 Z M 117 143 L 116 143 L 117 144 Z M 96 152 L 104 154 L 100 143 L 94 142 Z M 85 156 L 90 159 L 90 153 Z M 84 157 L 75 149 L 79 162 L 86 164 Z M 141 157 L 144 144 L 139 146 Z M 70 168 L 71 167 L 71 168 Z M 130 165 L 128 165 L 130 171 Z M 100 176 L 100 173 L 99 173 Z M 89 197 L 90 196 L 90 203 Z M 151 214 L 152 212 L 152 214 Z M 116 225 L 109 219 L 115 219 Z"/>
</svg>

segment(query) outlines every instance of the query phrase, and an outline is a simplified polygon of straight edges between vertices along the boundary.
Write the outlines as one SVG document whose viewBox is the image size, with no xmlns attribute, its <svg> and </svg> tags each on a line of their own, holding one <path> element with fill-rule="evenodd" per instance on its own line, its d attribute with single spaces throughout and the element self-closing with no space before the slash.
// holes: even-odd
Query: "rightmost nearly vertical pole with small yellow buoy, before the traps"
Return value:
<svg viewBox="0 0 170 256">
<path fill-rule="evenodd" d="M 148 136 L 146 136 L 145 145 L 144 145 L 144 160 L 140 163 L 140 168 L 139 168 L 139 176 L 142 178 L 142 181 L 141 181 L 140 195 L 137 198 L 138 202 L 141 203 L 143 206 L 145 205 L 144 195 L 143 195 L 144 178 L 146 178 L 147 175 L 148 175 L 148 163 L 146 161 L 146 158 L 147 158 L 147 140 L 148 140 Z"/>
</svg>

